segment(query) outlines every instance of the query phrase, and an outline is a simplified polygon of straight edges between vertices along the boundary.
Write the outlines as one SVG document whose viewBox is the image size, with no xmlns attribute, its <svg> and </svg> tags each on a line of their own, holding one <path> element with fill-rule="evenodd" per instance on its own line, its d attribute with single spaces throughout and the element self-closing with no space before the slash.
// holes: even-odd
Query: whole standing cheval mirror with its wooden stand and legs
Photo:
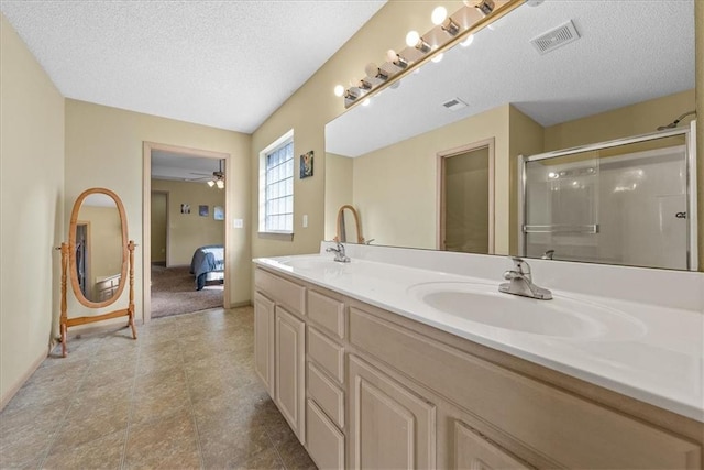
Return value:
<svg viewBox="0 0 704 470">
<path fill-rule="evenodd" d="M 62 356 L 66 357 L 67 330 L 110 318 L 128 317 L 132 338 L 134 326 L 134 241 L 128 241 L 124 206 L 117 194 L 106 188 L 86 189 L 78 196 L 70 214 L 68 243 L 62 243 Z M 68 275 L 67 275 L 68 273 Z M 129 278 L 128 278 L 129 275 Z M 129 285 L 127 308 L 101 315 L 68 318 L 66 284 L 76 299 L 88 308 L 114 304 Z"/>
</svg>

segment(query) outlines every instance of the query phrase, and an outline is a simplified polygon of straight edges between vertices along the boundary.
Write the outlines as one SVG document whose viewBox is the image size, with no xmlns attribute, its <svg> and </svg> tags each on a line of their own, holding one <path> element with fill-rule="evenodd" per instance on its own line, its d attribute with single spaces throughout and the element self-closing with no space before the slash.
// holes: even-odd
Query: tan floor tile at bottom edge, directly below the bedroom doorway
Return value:
<svg viewBox="0 0 704 470">
<path fill-rule="evenodd" d="M 188 409 L 130 427 L 125 468 L 190 469 L 201 467 L 196 427 Z"/>
</svg>

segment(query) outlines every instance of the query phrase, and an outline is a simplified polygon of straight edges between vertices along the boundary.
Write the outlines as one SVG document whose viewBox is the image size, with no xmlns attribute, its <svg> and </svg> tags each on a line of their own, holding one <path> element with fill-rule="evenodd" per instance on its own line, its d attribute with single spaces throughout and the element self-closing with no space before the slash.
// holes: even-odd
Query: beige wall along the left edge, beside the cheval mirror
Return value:
<svg viewBox="0 0 704 470">
<path fill-rule="evenodd" d="M 1 408 L 46 357 L 66 236 L 64 98 L 2 14 L 0 103 Z"/>
</svg>

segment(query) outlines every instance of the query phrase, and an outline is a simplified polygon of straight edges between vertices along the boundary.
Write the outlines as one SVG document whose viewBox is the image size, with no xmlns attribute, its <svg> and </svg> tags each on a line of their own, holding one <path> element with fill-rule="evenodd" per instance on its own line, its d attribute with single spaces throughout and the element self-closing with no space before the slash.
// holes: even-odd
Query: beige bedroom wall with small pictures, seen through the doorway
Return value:
<svg viewBox="0 0 704 470">
<path fill-rule="evenodd" d="M 215 206 L 224 206 L 224 190 L 206 183 L 152 179 L 152 190 L 168 193 L 168 265 L 190 265 L 194 251 L 206 244 L 223 244 L 224 221 L 213 218 Z M 190 214 L 180 205 L 190 204 Z M 208 217 L 198 206 L 208 206 Z"/>
</svg>

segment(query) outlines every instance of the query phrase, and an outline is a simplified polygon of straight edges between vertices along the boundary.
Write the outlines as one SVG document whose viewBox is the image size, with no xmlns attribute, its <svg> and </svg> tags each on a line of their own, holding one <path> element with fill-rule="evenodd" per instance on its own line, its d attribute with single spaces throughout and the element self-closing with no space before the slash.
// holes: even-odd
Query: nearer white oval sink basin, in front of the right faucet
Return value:
<svg viewBox="0 0 704 470">
<path fill-rule="evenodd" d="M 538 300 L 498 292 L 493 284 L 417 284 L 408 294 L 428 307 L 469 321 L 524 334 L 573 339 L 623 339 L 645 334 L 635 318 L 564 296 Z"/>
</svg>

